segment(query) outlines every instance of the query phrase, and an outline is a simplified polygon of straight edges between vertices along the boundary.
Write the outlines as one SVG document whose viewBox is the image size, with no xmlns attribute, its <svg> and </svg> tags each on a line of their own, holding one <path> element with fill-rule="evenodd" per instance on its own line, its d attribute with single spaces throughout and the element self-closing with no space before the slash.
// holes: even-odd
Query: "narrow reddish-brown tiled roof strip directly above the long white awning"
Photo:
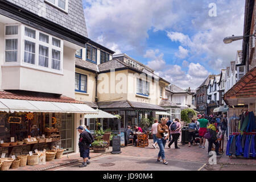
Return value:
<svg viewBox="0 0 256 182">
<path fill-rule="evenodd" d="M 84 102 L 77 101 L 67 96 L 59 96 L 58 94 L 30 92 L 24 90 L 0 91 L 0 98 L 28 100 L 28 101 L 45 101 L 45 102 L 65 102 L 84 104 Z"/>
</svg>

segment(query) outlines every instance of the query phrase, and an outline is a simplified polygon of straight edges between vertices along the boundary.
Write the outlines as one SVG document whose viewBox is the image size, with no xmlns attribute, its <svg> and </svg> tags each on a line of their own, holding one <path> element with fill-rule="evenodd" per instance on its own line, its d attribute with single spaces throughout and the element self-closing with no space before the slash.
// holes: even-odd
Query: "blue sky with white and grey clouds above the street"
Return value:
<svg viewBox="0 0 256 182">
<path fill-rule="evenodd" d="M 223 39 L 243 35 L 245 0 L 82 2 L 89 39 L 126 53 L 183 89 L 220 74 L 242 49 L 242 40 Z"/>
</svg>

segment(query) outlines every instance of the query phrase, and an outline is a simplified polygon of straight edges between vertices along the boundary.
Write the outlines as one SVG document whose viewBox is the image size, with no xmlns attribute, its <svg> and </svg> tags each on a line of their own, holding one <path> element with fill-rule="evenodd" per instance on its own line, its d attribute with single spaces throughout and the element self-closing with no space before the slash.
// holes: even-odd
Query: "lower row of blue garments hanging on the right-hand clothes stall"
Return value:
<svg viewBox="0 0 256 182">
<path fill-rule="evenodd" d="M 255 134 L 239 134 L 230 135 L 226 146 L 226 155 L 243 156 L 255 158 L 256 154 L 256 135 Z"/>
</svg>

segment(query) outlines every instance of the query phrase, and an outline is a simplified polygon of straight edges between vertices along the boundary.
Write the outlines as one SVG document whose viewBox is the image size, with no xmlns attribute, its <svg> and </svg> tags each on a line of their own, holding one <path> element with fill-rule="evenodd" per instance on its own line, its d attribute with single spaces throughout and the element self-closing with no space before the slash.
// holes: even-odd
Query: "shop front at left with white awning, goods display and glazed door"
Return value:
<svg viewBox="0 0 256 182">
<path fill-rule="evenodd" d="M 52 146 L 76 152 L 80 116 L 97 111 L 75 100 L 61 101 L 66 102 L 0 98 L 0 154 L 17 156 Z"/>
</svg>

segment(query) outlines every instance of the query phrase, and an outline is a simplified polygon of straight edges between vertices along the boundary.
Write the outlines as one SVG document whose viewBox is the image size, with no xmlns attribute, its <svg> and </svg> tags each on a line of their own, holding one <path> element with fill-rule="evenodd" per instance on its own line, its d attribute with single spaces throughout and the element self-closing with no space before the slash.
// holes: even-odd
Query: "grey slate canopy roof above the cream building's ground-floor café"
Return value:
<svg viewBox="0 0 256 182">
<path fill-rule="evenodd" d="M 144 110 L 162 110 L 166 111 L 163 107 L 154 104 L 134 101 L 112 101 L 112 102 L 98 102 L 100 109 L 144 109 Z"/>
</svg>

